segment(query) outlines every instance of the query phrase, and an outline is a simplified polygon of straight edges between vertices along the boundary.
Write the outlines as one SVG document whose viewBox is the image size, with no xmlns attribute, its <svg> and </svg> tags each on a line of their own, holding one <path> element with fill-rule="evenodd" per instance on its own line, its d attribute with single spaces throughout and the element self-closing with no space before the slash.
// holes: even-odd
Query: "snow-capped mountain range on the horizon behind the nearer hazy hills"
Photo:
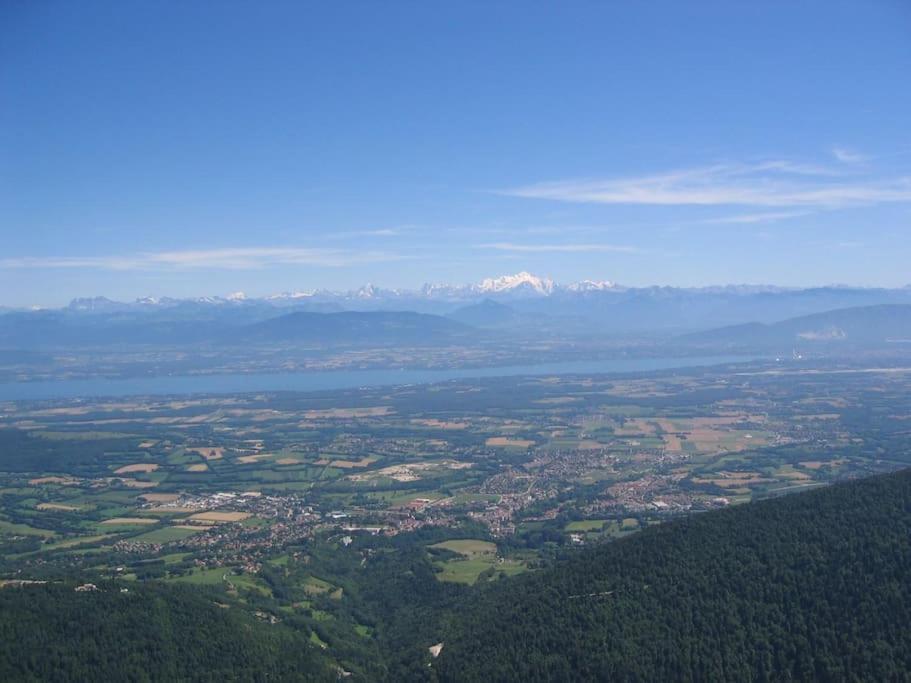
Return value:
<svg viewBox="0 0 911 683">
<path fill-rule="evenodd" d="M 194 299 L 146 297 L 132 303 L 91 297 L 75 299 L 60 313 L 80 318 L 108 316 L 238 325 L 299 312 L 410 311 L 445 316 L 475 327 L 532 330 L 535 334 L 575 330 L 597 335 L 773 323 L 838 308 L 883 304 L 911 304 L 911 289 L 624 287 L 604 280 L 561 284 L 523 271 L 473 284 L 426 284 L 411 290 L 366 284 L 344 292 L 317 289 L 266 297 L 234 292 Z"/>
</svg>

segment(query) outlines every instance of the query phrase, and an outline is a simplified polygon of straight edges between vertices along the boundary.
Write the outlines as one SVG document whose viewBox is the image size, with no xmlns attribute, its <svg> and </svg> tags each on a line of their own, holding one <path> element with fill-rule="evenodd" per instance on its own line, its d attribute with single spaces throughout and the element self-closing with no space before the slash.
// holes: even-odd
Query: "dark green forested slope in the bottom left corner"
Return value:
<svg viewBox="0 0 911 683">
<path fill-rule="evenodd" d="M 321 681 L 338 672 L 281 624 L 205 589 L 75 584 L 0 590 L 0 680 Z"/>
</svg>

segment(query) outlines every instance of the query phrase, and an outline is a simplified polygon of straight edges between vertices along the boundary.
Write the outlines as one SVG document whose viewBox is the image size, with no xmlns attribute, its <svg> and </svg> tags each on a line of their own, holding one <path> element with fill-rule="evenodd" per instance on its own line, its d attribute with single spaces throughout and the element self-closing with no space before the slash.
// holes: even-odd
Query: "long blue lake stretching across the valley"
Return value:
<svg viewBox="0 0 911 683">
<path fill-rule="evenodd" d="M 755 360 L 743 356 L 636 358 L 566 361 L 453 370 L 327 370 L 286 374 L 174 375 L 128 379 L 0 382 L 0 400 L 25 401 L 100 396 L 235 394 L 247 391 L 323 391 L 394 384 L 429 384 L 451 379 L 648 372 Z"/>
</svg>

